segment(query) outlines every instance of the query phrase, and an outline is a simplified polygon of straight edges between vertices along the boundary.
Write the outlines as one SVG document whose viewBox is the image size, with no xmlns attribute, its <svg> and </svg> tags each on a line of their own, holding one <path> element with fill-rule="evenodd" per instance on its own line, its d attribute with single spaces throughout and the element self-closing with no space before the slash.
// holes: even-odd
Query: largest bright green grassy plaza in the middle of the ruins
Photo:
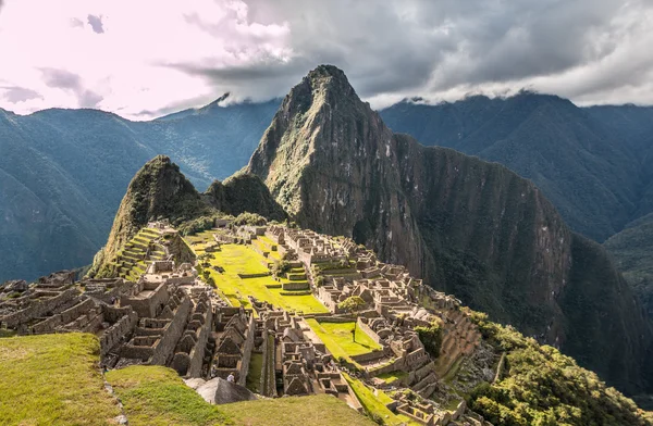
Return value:
<svg viewBox="0 0 653 426">
<path fill-rule="evenodd" d="M 195 236 L 186 237 L 189 246 L 197 255 L 206 253 L 207 246 L 213 242 L 213 231 L 204 231 Z M 256 240 L 255 240 L 256 241 Z M 257 243 L 266 243 L 266 238 L 261 237 Z M 269 241 L 270 243 L 272 241 Z M 270 258 L 264 258 L 246 245 L 222 245 L 221 250 L 206 253 L 209 255 L 208 262 L 211 267 L 210 277 L 215 283 L 217 291 L 223 299 L 234 306 L 249 308 L 247 296 L 252 296 L 258 300 L 272 303 L 275 306 L 283 308 L 286 311 L 304 313 L 326 313 L 329 310 L 308 291 L 284 291 L 281 284 L 287 281 L 275 280 L 272 276 L 262 276 L 256 278 L 241 278 L 238 274 L 268 274 L 270 270 L 268 264 L 273 263 L 275 258 L 270 252 Z M 276 258 L 279 259 L 279 258 Z M 222 268 L 223 272 L 218 272 Z"/>
</svg>

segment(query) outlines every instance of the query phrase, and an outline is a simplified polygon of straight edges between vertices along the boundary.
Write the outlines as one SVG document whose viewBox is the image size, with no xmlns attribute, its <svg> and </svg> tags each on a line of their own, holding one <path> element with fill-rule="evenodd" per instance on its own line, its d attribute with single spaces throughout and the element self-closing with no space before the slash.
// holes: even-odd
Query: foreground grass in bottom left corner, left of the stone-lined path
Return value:
<svg viewBox="0 0 653 426">
<path fill-rule="evenodd" d="M 0 339 L 0 424 L 109 425 L 121 414 L 88 334 Z"/>
</svg>

